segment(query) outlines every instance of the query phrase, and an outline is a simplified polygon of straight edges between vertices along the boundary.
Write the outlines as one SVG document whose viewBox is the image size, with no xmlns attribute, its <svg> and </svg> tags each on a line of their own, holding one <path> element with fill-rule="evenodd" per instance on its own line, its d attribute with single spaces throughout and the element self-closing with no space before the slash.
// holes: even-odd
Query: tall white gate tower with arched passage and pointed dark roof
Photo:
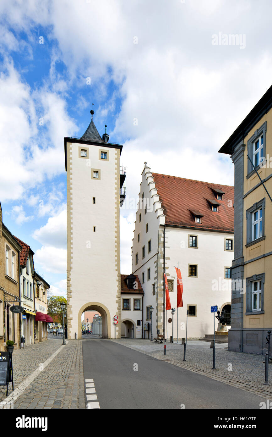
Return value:
<svg viewBox="0 0 272 437">
<path fill-rule="evenodd" d="M 64 139 L 67 170 L 67 335 L 81 338 L 85 311 L 102 316 L 102 336 L 121 336 L 119 205 L 124 198 L 122 146 L 92 120 L 81 138 Z"/>
</svg>

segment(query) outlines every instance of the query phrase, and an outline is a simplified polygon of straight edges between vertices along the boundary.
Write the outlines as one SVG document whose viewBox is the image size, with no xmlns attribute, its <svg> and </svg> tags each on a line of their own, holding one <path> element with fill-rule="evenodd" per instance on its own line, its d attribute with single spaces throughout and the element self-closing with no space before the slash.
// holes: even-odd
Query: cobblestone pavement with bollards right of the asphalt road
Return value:
<svg viewBox="0 0 272 437">
<path fill-rule="evenodd" d="M 265 385 L 265 364 L 263 363 L 265 357 L 262 355 L 232 352 L 227 350 L 226 343 L 217 344 L 216 370 L 212 370 L 213 350 L 210 349 L 210 342 L 188 341 L 186 361 L 184 362 L 183 345 L 180 343 L 166 342 L 165 356 L 164 343 L 129 338 L 112 341 L 139 350 L 159 360 L 168 361 L 181 368 L 272 399 L 272 364 L 269 365 L 269 384 Z"/>
</svg>

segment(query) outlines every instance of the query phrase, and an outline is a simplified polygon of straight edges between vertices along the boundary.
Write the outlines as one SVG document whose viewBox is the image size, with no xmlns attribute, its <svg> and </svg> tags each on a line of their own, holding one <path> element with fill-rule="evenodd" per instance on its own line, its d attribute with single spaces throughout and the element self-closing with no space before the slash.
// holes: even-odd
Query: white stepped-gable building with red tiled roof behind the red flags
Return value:
<svg viewBox="0 0 272 437">
<path fill-rule="evenodd" d="M 176 309 L 179 267 L 183 307 L 174 315 L 174 337 L 200 338 L 213 333 L 212 305 L 231 326 L 231 262 L 233 259 L 234 187 L 151 173 L 145 163 L 140 184 L 132 245 L 132 271 L 144 291 L 143 324 L 153 336 L 172 335 L 166 314 L 165 271 L 172 308 Z M 179 263 L 179 265 L 178 265 Z M 148 326 L 148 325 L 146 325 Z M 217 325 L 216 325 L 217 326 Z M 177 331 L 178 328 L 178 331 Z M 165 332 L 164 332 L 165 331 Z"/>
</svg>

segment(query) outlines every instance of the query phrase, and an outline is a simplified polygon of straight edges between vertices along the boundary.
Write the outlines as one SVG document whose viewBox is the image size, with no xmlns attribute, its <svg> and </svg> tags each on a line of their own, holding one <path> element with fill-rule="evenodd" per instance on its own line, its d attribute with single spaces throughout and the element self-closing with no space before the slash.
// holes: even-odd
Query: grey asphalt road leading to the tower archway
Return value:
<svg viewBox="0 0 272 437">
<path fill-rule="evenodd" d="M 259 409 L 266 402 L 110 340 L 82 346 L 84 380 L 93 379 L 102 409 Z"/>
</svg>

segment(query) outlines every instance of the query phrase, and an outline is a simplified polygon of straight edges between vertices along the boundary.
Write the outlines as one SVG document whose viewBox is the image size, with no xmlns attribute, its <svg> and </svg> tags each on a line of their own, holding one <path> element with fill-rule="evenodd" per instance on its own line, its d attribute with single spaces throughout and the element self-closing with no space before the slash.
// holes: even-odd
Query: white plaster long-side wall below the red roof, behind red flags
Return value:
<svg viewBox="0 0 272 437">
<path fill-rule="evenodd" d="M 188 247 L 188 235 L 198 236 L 198 249 Z M 188 316 L 188 337 L 203 337 L 213 333 L 212 305 L 222 305 L 231 302 L 231 279 L 224 278 L 224 267 L 231 267 L 233 252 L 224 250 L 225 238 L 233 239 L 233 234 L 199 231 L 193 229 L 166 228 L 165 256 L 170 257 L 165 265 L 169 267 L 168 279 L 174 279 L 174 291 L 169 293 L 172 308 L 176 308 L 177 278 L 179 268 L 183 283 L 183 307 L 178 311 L 178 336 L 186 336 L 187 305 L 197 305 L 196 317 Z M 198 277 L 188 277 L 188 264 L 198 264 Z M 216 287 L 216 282 L 218 287 Z M 223 282 L 222 282 L 223 281 Z M 220 285 L 221 284 L 221 285 Z M 214 290 L 213 288 L 218 288 Z M 177 311 L 174 314 L 174 337 L 176 337 Z M 217 314 L 216 314 L 217 316 Z M 167 319 L 172 317 L 167 311 Z M 217 319 L 215 320 L 217 328 Z M 183 325 L 184 324 L 184 325 Z M 168 323 L 168 336 L 172 335 L 172 323 Z"/>
</svg>

